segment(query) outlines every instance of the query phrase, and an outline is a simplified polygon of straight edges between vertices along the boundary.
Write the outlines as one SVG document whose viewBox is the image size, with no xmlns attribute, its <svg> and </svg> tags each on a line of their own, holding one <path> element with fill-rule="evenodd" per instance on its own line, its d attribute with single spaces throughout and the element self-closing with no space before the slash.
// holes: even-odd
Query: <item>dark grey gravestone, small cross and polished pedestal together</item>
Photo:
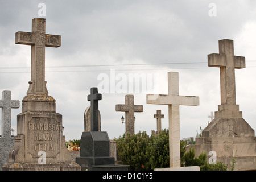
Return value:
<svg viewBox="0 0 256 182">
<path fill-rule="evenodd" d="M 128 166 L 115 165 L 115 158 L 110 157 L 110 140 L 106 131 L 98 131 L 98 101 L 101 100 L 98 88 L 91 88 L 87 100 L 90 101 L 91 131 L 84 131 L 80 139 L 80 157 L 76 163 L 81 170 L 127 170 Z"/>
</svg>

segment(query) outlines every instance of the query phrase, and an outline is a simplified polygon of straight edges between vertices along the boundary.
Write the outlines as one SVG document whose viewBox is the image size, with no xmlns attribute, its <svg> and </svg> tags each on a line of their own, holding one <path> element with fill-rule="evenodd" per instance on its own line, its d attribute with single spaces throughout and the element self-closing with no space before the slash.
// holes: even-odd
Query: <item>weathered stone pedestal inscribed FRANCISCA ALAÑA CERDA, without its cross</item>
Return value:
<svg viewBox="0 0 256 182">
<path fill-rule="evenodd" d="M 80 170 L 78 164 L 71 163 L 64 144 L 62 115 L 55 112 L 55 100 L 46 99 L 50 97 L 34 96 L 35 101 L 23 99 L 14 147 L 3 170 Z"/>
</svg>

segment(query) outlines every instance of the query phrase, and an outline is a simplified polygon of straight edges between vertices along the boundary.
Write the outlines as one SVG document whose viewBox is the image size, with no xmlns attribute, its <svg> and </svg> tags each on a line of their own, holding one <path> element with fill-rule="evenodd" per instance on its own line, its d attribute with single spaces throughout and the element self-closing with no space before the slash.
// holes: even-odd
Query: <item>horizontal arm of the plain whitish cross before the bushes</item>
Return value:
<svg viewBox="0 0 256 182">
<path fill-rule="evenodd" d="M 199 105 L 198 96 L 176 96 L 176 95 L 155 95 L 147 94 L 147 104 L 162 104 L 162 105 Z"/>
</svg>

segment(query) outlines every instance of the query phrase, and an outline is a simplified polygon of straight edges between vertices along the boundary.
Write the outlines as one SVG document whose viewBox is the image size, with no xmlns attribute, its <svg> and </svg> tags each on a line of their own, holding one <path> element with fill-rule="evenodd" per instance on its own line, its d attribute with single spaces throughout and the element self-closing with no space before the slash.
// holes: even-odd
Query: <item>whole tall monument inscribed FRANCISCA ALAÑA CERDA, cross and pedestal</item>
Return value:
<svg viewBox="0 0 256 182">
<path fill-rule="evenodd" d="M 45 81 L 45 47 L 60 47 L 60 35 L 46 34 L 46 19 L 32 19 L 32 32 L 16 32 L 16 44 L 31 46 L 31 81 L 18 114 L 17 135 L 3 170 L 80 170 L 71 163 L 65 147 L 62 115 L 55 99 L 48 95 Z"/>
</svg>

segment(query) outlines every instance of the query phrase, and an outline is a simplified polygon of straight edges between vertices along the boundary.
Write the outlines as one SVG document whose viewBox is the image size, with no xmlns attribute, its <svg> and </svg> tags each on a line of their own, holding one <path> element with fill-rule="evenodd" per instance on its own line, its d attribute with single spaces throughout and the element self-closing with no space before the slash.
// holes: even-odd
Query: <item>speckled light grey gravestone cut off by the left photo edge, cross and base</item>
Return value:
<svg viewBox="0 0 256 182">
<path fill-rule="evenodd" d="M 2 92 L 0 108 L 2 108 L 2 135 L 0 137 L 0 170 L 2 170 L 14 146 L 14 138 L 11 137 L 11 109 L 19 108 L 19 101 L 11 100 L 11 91 L 5 90 Z"/>
</svg>

